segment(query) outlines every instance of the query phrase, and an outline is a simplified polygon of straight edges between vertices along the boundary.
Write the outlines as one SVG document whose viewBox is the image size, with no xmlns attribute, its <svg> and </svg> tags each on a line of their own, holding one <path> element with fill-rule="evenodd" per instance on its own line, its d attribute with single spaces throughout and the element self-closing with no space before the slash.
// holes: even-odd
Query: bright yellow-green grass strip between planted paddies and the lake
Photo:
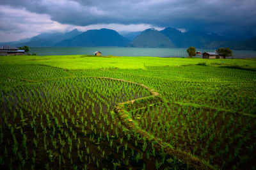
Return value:
<svg viewBox="0 0 256 170">
<path fill-rule="evenodd" d="M 47 65 L 68 70 L 84 69 L 145 69 L 145 66 L 182 66 L 205 63 L 212 66 L 256 68 L 256 59 L 202 59 L 152 57 L 95 57 L 95 56 L 0 56 L 0 63 Z"/>
</svg>

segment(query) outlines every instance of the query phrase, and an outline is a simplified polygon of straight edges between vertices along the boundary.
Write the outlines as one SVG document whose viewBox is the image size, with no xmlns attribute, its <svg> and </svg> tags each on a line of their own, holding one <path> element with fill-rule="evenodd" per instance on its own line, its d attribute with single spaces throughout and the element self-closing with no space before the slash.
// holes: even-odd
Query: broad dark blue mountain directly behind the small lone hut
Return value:
<svg viewBox="0 0 256 170">
<path fill-rule="evenodd" d="M 80 35 L 56 43 L 59 47 L 97 47 L 97 46 L 120 46 L 124 47 L 129 43 L 127 38 L 119 35 L 112 29 L 93 29 Z"/>
</svg>

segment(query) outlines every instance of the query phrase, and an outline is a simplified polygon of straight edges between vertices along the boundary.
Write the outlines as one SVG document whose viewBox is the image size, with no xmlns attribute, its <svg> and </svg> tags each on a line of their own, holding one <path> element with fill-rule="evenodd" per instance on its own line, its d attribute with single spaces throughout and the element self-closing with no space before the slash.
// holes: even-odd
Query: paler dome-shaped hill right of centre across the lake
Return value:
<svg viewBox="0 0 256 170">
<path fill-rule="evenodd" d="M 129 43 L 131 47 L 175 47 L 172 40 L 170 40 L 167 36 L 159 33 L 154 29 L 146 29 L 141 32 L 140 35 L 136 36 L 131 43 Z"/>
</svg>

